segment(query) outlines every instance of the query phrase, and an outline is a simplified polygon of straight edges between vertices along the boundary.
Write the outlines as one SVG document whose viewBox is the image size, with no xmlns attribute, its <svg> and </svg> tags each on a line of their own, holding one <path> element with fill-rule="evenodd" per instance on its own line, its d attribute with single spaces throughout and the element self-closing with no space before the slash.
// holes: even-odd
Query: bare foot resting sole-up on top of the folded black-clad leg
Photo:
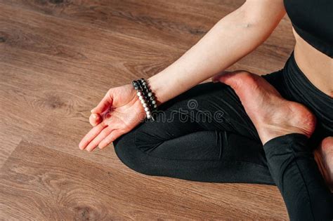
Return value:
<svg viewBox="0 0 333 221">
<path fill-rule="evenodd" d="M 315 116 L 303 105 L 282 98 L 261 76 L 237 71 L 222 74 L 218 80 L 235 90 L 263 144 L 289 133 L 312 135 Z"/>
</svg>

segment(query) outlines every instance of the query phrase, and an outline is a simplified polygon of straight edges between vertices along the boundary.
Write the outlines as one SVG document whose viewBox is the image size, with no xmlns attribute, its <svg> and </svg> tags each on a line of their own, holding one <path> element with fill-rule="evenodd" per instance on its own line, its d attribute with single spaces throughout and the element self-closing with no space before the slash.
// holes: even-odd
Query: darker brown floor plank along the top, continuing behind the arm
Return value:
<svg viewBox="0 0 333 221">
<path fill-rule="evenodd" d="M 8 5 L 44 15 L 91 25 L 126 36 L 145 39 L 186 50 L 196 43 L 219 19 L 243 1 L 7 1 Z M 142 17 L 142 18 L 141 18 Z M 177 22 L 176 25 L 173 22 Z M 198 30 L 198 25 L 202 30 Z M 195 31 L 189 31 L 189 30 Z M 199 34 L 198 34 L 199 33 Z M 282 68 L 294 47 L 287 16 L 270 38 L 252 55 L 239 62 L 250 72 L 264 74 Z"/>
</svg>

